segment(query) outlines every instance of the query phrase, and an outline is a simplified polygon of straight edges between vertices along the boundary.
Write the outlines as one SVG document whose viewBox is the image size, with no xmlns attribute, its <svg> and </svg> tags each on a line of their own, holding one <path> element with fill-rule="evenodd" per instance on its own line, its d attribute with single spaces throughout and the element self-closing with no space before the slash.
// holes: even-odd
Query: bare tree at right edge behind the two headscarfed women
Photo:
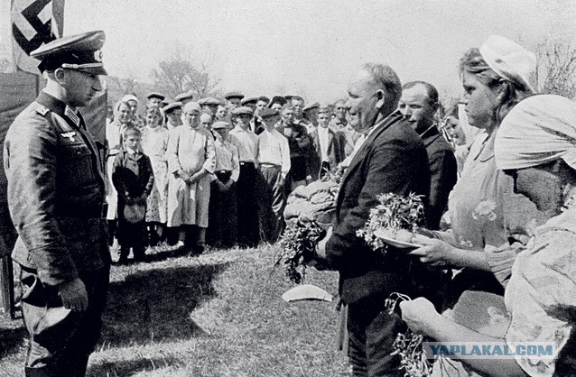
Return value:
<svg viewBox="0 0 576 377">
<path fill-rule="evenodd" d="M 536 55 L 541 93 L 576 97 L 576 49 L 562 41 L 543 42 Z"/>
</svg>

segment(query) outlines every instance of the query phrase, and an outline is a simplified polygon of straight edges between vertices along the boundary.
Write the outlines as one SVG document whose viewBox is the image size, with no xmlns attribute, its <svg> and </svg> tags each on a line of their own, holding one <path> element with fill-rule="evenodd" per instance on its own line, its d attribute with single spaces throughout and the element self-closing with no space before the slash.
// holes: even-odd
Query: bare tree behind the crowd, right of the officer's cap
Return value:
<svg viewBox="0 0 576 377">
<path fill-rule="evenodd" d="M 169 97 L 187 91 L 191 91 L 195 97 L 207 97 L 214 94 L 219 83 L 219 79 L 210 74 L 207 63 L 195 64 L 185 58 L 181 51 L 161 61 L 158 69 L 153 69 L 152 76 L 155 87 Z"/>
</svg>

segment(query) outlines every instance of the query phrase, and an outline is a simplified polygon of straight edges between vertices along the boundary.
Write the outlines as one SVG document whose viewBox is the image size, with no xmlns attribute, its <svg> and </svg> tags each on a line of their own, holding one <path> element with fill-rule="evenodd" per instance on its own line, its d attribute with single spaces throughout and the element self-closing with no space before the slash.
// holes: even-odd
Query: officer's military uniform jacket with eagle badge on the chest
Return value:
<svg viewBox="0 0 576 377">
<path fill-rule="evenodd" d="M 56 285 L 107 267 L 104 171 L 80 115 L 42 92 L 6 133 L 12 258 Z"/>
</svg>

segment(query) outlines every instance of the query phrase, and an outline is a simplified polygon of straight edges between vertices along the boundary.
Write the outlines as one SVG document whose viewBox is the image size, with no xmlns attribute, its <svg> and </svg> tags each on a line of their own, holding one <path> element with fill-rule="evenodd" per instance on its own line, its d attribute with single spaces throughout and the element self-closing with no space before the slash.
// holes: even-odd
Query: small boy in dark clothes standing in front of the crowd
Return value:
<svg viewBox="0 0 576 377">
<path fill-rule="evenodd" d="M 128 127 L 122 133 L 124 148 L 116 155 L 112 168 L 112 182 L 118 192 L 118 230 L 120 244 L 119 263 L 127 262 L 130 248 L 135 261 L 144 261 L 146 244 L 145 213 L 146 198 L 153 188 L 154 176 L 150 158 L 140 147 L 142 133 L 136 127 Z M 128 210 L 125 211 L 126 207 Z M 126 216 L 127 212 L 132 212 Z M 134 216 L 141 214 L 142 216 Z"/>
</svg>

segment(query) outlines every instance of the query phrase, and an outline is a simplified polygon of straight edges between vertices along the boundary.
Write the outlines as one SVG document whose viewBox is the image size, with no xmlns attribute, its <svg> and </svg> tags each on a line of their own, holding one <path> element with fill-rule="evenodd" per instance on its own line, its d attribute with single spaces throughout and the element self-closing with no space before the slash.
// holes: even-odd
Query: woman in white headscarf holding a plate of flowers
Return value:
<svg viewBox="0 0 576 377">
<path fill-rule="evenodd" d="M 508 242 L 524 240 L 525 222 L 537 217 L 534 205 L 512 192 L 512 180 L 498 172 L 494 161 L 499 125 L 516 104 L 534 95 L 535 70 L 533 52 L 496 35 L 460 60 L 468 122 L 482 131 L 474 137 L 451 192 L 452 233 L 436 234 L 443 241 L 423 237 L 425 246 L 411 253 L 434 266 L 465 269 L 451 285 L 447 308 L 462 290 L 502 294 L 500 284 L 506 284 L 516 257 L 516 245 L 511 248 Z"/>
</svg>

